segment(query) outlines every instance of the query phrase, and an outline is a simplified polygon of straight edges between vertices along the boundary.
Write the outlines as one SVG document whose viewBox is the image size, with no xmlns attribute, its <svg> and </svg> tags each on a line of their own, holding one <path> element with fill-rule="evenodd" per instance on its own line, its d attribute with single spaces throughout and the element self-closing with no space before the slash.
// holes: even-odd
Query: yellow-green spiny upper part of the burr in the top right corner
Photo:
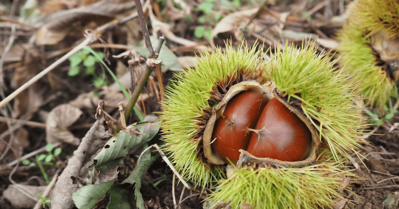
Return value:
<svg viewBox="0 0 399 209">
<path fill-rule="evenodd" d="M 350 21 L 367 32 L 367 36 L 381 30 L 392 37 L 399 35 L 398 0 L 358 0 L 354 2 Z"/>
</svg>

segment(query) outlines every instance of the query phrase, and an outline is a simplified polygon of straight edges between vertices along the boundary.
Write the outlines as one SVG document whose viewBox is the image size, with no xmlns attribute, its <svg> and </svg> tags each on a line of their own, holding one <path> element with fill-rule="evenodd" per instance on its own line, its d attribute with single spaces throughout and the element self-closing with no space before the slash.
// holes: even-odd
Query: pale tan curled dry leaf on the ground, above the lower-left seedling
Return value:
<svg viewBox="0 0 399 209">
<path fill-rule="evenodd" d="M 67 142 L 77 145 L 78 139 L 68 127 L 79 119 L 83 112 L 70 104 L 61 104 L 50 111 L 46 120 L 46 141 L 49 143 Z"/>
</svg>

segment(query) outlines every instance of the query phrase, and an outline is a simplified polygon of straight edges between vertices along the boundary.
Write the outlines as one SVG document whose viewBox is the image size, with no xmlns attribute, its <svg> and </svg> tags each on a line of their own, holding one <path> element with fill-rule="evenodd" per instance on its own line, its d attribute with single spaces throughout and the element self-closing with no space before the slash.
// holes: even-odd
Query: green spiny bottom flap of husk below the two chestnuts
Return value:
<svg viewBox="0 0 399 209">
<path fill-rule="evenodd" d="M 332 157 L 303 168 L 241 168 L 222 180 L 207 198 L 212 205 L 228 203 L 232 209 L 248 204 L 253 209 L 331 208 L 334 199 L 343 199 L 340 186 L 344 178 L 342 162 Z M 331 155 L 330 155 L 331 156 Z"/>
</svg>

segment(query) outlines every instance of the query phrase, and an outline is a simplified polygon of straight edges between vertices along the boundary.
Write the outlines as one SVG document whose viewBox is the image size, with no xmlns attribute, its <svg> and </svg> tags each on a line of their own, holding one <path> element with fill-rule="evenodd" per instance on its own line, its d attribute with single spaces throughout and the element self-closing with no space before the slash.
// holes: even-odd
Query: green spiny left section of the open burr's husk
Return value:
<svg viewBox="0 0 399 209">
<path fill-rule="evenodd" d="M 181 175 L 198 184 L 215 182 L 224 178 L 223 168 L 208 165 L 199 160 L 198 147 L 202 145 L 201 132 L 210 117 L 212 93 L 216 84 L 227 85 L 234 80 L 267 81 L 265 62 L 256 47 L 243 46 L 233 49 L 228 45 L 225 52 L 217 48 L 211 53 L 202 52 L 195 69 L 177 74 L 170 91 L 166 93 L 163 112 L 163 149 L 172 153 L 172 163 Z M 209 101 L 208 101 L 209 100 Z M 211 185 L 211 184 L 209 184 Z"/>
</svg>

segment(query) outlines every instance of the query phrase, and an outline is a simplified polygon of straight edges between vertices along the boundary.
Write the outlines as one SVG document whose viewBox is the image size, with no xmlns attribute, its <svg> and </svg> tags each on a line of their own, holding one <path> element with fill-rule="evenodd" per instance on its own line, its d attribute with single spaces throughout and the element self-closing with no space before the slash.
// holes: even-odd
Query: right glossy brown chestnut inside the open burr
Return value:
<svg viewBox="0 0 399 209">
<path fill-rule="evenodd" d="M 273 98 L 259 117 L 247 151 L 259 158 L 302 161 L 309 155 L 311 141 L 312 136 L 305 123 Z"/>
</svg>

